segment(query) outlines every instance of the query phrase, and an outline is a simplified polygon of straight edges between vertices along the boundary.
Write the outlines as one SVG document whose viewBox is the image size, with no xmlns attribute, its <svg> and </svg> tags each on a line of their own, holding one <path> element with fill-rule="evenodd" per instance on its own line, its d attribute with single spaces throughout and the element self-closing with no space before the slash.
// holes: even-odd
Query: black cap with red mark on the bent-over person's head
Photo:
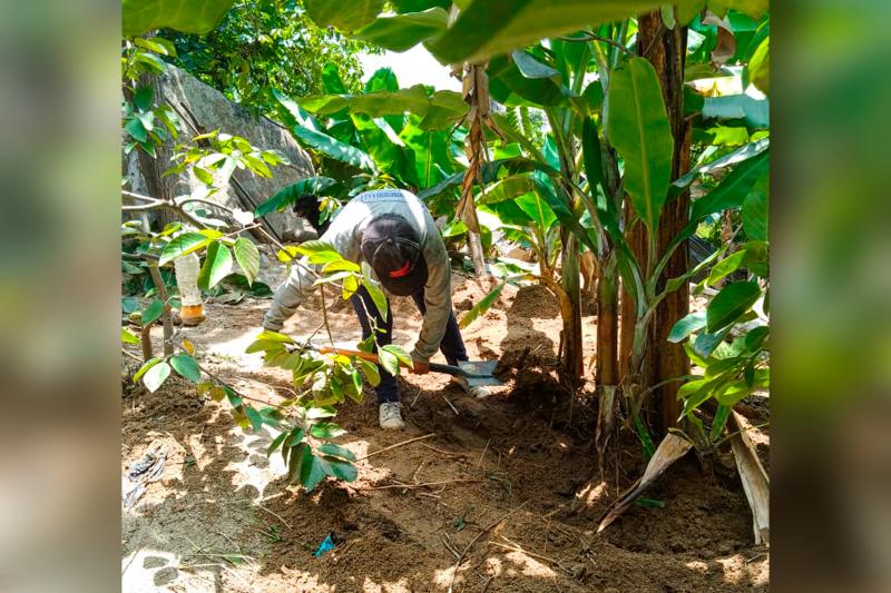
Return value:
<svg viewBox="0 0 891 593">
<path fill-rule="evenodd" d="M 413 295 L 427 284 L 427 261 L 418 233 L 396 214 L 369 223 L 362 235 L 362 257 L 394 295 Z"/>
</svg>

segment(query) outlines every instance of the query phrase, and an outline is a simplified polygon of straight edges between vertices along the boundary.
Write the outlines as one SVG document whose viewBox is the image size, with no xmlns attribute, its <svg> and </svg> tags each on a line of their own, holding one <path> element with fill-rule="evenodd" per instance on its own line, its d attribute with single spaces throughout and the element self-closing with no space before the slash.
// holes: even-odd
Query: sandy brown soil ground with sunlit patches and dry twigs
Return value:
<svg viewBox="0 0 891 593">
<path fill-rule="evenodd" d="M 456 277 L 454 284 L 458 309 L 487 293 L 476 281 Z M 209 304 L 208 320 L 184 334 L 213 372 L 277 402 L 288 395 L 286 374 L 244 354 L 267 306 L 249 298 Z M 393 309 L 395 340 L 410 347 L 420 315 L 405 299 Z M 285 332 L 310 334 L 319 310 L 317 298 L 304 304 Z M 585 317 L 586 344 L 594 343 L 595 324 Z M 331 327 L 337 342 L 359 338 L 349 304 L 333 307 Z M 374 396 L 366 393 L 336 421 L 349 431 L 341 442 L 356 455 L 433 436 L 360 462 L 353 484 L 329 481 L 310 495 L 286 483 L 280 455 L 266 458 L 274 435 L 243 432 L 227 405 L 198 402 L 177 378 L 155 394 L 125 386 L 123 473 L 151 446 L 168 457 L 161 478 L 124 511 L 124 591 L 446 591 L 452 579 L 456 591 L 477 592 L 766 590 L 767 551 L 753 545 L 751 513 L 728 459 L 726 472 L 704 476 L 688 456 L 645 495 L 663 507 L 633 506 L 595 536 L 600 513 L 644 462 L 639 443 L 626 435 L 598 495 L 578 504 L 579 487 L 599 480 L 593 402 L 587 391 L 570 399 L 556 387 L 559 328 L 547 290 L 508 287 L 464 332 L 471 358 L 521 365 L 508 384 L 480 402 L 448 378 L 401 379 L 403 433 L 376 427 Z M 766 417 L 763 404 L 751 407 Z M 766 455 L 766 434 L 755 441 Z M 129 488 L 126 477 L 123 487 Z M 454 552 L 481 533 L 453 574 Z M 313 556 L 327 534 L 336 548 Z"/>
</svg>

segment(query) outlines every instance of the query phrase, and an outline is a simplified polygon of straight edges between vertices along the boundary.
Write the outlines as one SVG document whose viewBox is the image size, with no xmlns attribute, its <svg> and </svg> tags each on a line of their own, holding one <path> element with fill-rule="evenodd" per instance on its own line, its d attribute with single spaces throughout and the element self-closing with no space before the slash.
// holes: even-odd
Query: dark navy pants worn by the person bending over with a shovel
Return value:
<svg viewBox="0 0 891 593">
<path fill-rule="evenodd" d="M 421 315 L 427 313 L 424 305 L 424 290 L 413 294 L 411 298 L 418 306 Z M 365 339 L 371 335 L 371 323 L 368 315 L 374 317 L 378 329 L 383 329 L 383 333 L 378 333 L 378 344 L 386 346 L 393 340 L 393 314 L 390 308 L 390 302 L 386 303 L 386 319 L 381 317 L 378 307 L 371 299 L 371 295 L 361 286 L 355 295 L 350 298 L 353 304 L 359 323 L 362 324 L 362 338 Z M 454 318 L 454 310 L 449 313 L 449 322 L 446 325 L 446 335 L 440 344 L 440 350 L 446 356 L 446 360 L 450 365 L 458 365 L 459 360 L 467 360 L 467 350 L 464 349 L 464 340 L 461 339 L 461 332 L 458 329 L 458 320 Z M 376 347 L 375 347 L 376 352 Z M 399 402 L 399 389 L 396 388 L 396 378 L 388 373 L 382 366 L 378 365 L 378 370 L 381 374 L 381 384 L 378 386 L 378 403 L 384 402 Z"/>
</svg>

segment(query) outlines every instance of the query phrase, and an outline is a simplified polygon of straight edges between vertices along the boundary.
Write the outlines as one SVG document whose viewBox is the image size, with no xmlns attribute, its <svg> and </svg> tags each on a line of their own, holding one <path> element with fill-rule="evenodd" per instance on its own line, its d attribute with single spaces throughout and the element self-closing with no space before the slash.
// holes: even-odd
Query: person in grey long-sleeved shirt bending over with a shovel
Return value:
<svg viewBox="0 0 891 593">
<path fill-rule="evenodd" d="M 446 244 L 427 207 L 410 191 L 382 189 L 360 194 L 340 211 L 320 240 L 331 244 L 342 257 L 353 263 L 366 261 L 383 288 L 396 296 L 411 296 L 423 315 L 418 342 L 411 352 L 415 373 L 428 373 L 430 357 L 442 350 L 450 365 L 467 360 L 464 342 L 458 328 L 451 303 L 451 268 Z M 263 317 L 263 327 L 280 332 L 311 290 L 314 277 L 306 260 L 293 266 L 291 275 L 275 290 L 272 306 Z M 386 319 L 364 286 L 350 298 L 362 337 L 372 332 L 369 315 L 382 333 L 378 344 L 385 346 L 393 335 L 392 308 L 388 299 Z M 381 428 L 404 427 L 396 379 L 378 366 L 381 383 L 376 388 Z M 466 379 L 453 378 L 468 394 L 486 397 L 482 386 L 469 386 Z"/>
</svg>

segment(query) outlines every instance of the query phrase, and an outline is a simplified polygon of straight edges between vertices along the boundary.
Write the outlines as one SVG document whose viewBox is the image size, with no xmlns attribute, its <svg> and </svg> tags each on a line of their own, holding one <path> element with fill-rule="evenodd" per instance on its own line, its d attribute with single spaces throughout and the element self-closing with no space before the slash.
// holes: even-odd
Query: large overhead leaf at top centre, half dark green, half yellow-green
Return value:
<svg viewBox="0 0 891 593">
<path fill-rule="evenodd" d="M 482 61 L 545 38 L 656 10 L 648 0 L 473 0 L 452 27 L 427 43 L 441 63 Z"/>
</svg>

